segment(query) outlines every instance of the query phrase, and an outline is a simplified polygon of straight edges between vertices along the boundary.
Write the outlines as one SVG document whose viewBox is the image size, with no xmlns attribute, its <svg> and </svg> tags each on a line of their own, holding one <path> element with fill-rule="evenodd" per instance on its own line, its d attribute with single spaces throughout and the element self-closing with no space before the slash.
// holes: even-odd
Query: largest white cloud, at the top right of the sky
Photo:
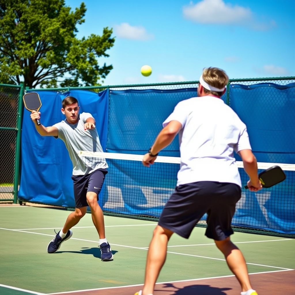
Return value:
<svg viewBox="0 0 295 295">
<path fill-rule="evenodd" d="M 202 0 L 183 6 L 183 16 L 201 24 L 236 24 L 265 31 L 276 27 L 276 22 L 254 19 L 250 8 L 225 3 L 223 0 Z"/>
</svg>

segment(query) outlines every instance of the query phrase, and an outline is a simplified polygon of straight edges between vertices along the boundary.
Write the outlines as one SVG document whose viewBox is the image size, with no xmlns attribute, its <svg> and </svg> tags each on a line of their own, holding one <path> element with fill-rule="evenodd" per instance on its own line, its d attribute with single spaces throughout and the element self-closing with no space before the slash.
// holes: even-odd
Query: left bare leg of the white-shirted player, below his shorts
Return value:
<svg viewBox="0 0 295 295">
<path fill-rule="evenodd" d="M 167 244 L 172 234 L 171 230 L 167 230 L 159 225 L 154 230 L 148 249 L 145 266 L 145 284 L 142 289 L 142 295 L 153 294 L 155 283 L 166 260 Z"/>
</svg>

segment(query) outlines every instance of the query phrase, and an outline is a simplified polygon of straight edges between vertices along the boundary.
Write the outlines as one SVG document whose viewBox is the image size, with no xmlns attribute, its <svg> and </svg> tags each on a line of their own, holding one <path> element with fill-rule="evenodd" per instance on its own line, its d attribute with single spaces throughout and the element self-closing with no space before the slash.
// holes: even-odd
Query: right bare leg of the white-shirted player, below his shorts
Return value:
<svg viewBox="0 0 295 295">
<path fill-rule="evenodd" d="M 229 237 L 223 241 L 215 241 L 215 244 L 223 253 L 228 267 L 239 281 L 242 292 L 252 289 L 246 261 L 240 249 L 232 243 Z"/>
</svg>

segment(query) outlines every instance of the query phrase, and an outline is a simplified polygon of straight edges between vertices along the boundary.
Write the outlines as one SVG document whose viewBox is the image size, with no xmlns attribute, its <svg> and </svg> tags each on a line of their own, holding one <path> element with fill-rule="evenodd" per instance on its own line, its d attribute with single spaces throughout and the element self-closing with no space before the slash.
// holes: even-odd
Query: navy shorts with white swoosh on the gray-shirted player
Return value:
<svg viewBox="0 0 295 295">
<path fill-rule="evenodd" d="M 86 194 L 88 191 L 95 192 L 98 199 L 106 173 L 108 173 L 106 169 L 99 168 L 90 174 L 72 175 L 76 208 L 88 206 L 86 200 Z"/>
</svg>

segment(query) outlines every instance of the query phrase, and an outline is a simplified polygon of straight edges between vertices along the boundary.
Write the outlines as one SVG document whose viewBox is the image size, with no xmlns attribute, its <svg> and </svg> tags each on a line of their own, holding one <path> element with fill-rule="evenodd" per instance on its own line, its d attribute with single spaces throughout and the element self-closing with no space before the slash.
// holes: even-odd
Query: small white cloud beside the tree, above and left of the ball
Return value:
<svg viewBox="0 0 295 295">
<path fill-rule="evenodd" d="M 131 26 L 127 22 L 115 25 L 115 32 L 119 38 L 147 41 L 154 38 L 152 34 L 148 34 L 144 27 Z"/>
</svg>

